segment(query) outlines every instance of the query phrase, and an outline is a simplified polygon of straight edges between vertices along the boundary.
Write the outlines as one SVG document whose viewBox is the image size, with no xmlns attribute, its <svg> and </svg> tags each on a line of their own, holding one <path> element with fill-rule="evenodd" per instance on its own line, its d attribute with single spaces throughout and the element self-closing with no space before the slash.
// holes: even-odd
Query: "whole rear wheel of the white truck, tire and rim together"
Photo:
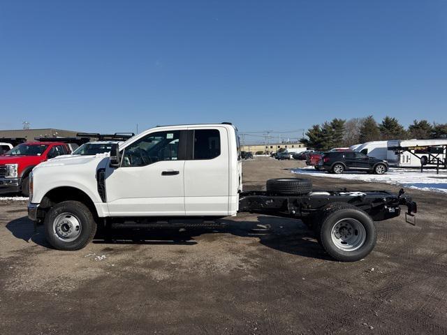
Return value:
<svg viewBox="0 0 447 335">
<path fill-rule="evenodd" d="M 361 260 L 376 245 L 374 221 L 352 204 L 332 204 L 323 209 L 318 221 L 318 242 L 336 260 Z"/>
</svg>

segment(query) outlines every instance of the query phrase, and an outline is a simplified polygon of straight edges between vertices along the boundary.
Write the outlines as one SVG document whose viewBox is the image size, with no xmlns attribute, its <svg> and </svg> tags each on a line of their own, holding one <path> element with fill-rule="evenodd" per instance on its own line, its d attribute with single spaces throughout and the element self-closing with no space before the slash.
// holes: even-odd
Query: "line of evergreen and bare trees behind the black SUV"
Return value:
<svg viewBox="0 0 447 335">
<path fill-rule="evenodd" d="M 306 136 L 307 138 L 301 139 L 302 143 L 307 147 L 324 151 L 379 140 L 446 138 L 447 124 L 414 120 L 413 124 L 405 129 L 395 117 L 384 117 L 378 124 L 374 117 L 369 115 L 349 120 L 335 118 L 323 124 L 314 124 L 307 130 Z"/>
</svg>

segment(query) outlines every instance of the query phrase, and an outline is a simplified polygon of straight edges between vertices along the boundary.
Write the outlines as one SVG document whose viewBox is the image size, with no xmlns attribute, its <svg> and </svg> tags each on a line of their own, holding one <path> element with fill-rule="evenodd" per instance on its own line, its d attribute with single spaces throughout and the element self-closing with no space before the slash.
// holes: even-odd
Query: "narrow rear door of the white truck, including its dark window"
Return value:
<svg viewBox="0 0 447 335">
<path fill-rule="evenodd" d="M 228 134 L 224 127 L 188 131 L 184 164 L 186 215 L 225 216 L 229 204 Z"/>
</svg>

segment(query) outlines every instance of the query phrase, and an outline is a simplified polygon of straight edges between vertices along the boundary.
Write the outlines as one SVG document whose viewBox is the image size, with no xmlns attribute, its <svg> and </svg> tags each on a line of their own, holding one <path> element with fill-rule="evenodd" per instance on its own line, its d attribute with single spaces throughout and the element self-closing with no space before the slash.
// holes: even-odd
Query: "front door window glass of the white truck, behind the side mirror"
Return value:
<svg viewBox="0 0 447 335">
<path fill-rule="evenodd" d="M 122 166 L 145 166 L 159 161 L 176 161 L 180 131 L 159 131 L 140 138 L 124 149 Z"/>
</svg>

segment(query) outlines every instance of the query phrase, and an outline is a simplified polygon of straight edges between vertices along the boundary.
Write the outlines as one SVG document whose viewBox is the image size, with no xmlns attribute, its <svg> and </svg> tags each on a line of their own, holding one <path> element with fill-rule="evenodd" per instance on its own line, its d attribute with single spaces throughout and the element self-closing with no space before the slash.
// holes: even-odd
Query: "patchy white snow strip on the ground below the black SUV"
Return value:
<svg viewBox="0 0 447 335">
<path fill-rule="evenodd" d="M 317 171 L 312 166 L 306 168 L 293 169 L 293 173 L 309 174 L 315 177 L 329 177 L 342 179 L 355 179 L 362 181 L 379 182 L 393 185 L 401 185 L 407 188 L 416 188 L 423 191 L 436 191 L 447 194 L 447 172 L 445 170 L 424 170 L 390 168 L 386 174 L 367 174 L 365 172 L 344 172 L 342 174 L 332 174 L 325 171 Z"/>
</svg>

